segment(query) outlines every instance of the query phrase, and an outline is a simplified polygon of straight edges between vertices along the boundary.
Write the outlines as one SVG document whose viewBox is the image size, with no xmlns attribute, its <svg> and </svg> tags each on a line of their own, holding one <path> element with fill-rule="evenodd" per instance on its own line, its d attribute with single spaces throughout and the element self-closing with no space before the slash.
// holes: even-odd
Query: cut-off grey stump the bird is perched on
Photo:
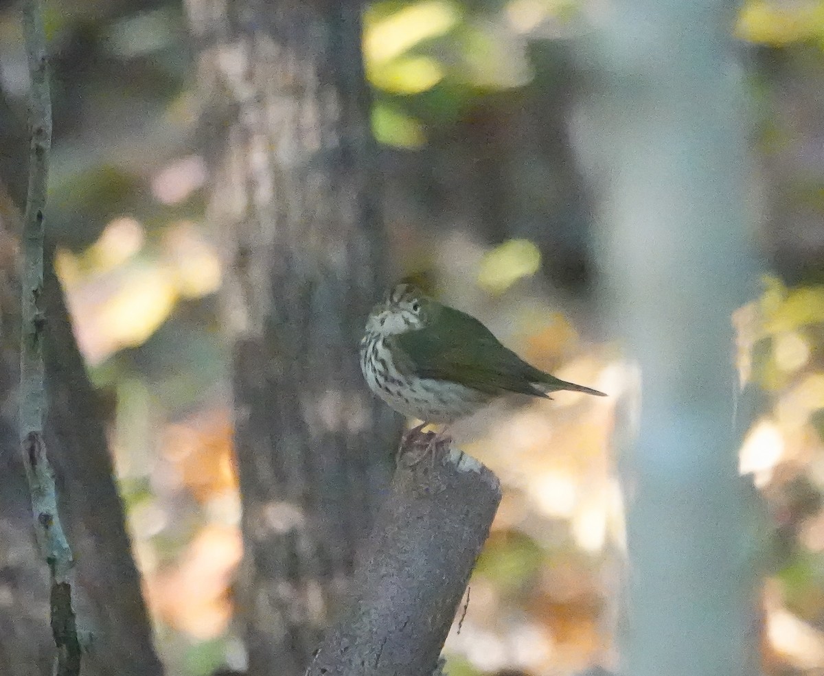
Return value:
<svg viewBox="0 0 824 676">
<path fill-rule="evenodd" d="M 307 676 L 436 673 L 500 499 L 498 478 L 454 447 L 434 463 L 401 462 L 358 557 L 349 608 Z"/>
</svg>

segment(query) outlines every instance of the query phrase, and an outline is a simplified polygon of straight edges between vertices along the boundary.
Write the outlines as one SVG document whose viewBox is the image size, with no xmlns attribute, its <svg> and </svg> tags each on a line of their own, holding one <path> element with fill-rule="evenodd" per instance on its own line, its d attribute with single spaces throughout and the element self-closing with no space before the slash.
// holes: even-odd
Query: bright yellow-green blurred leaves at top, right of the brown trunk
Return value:
<svg viewBox="0 0 824 676">
<path fill-rule="evenodd" d="M 363 54 L 379 140 L 421 146 L 428 126 L 456 120 L 486 92 L 528 82 L 525 45 L 510 35 L 502 9 L 445 0 L 368 6 Z M 545 14 L 550 5 L 536 2 L 533 11 Z"/>
</svg>

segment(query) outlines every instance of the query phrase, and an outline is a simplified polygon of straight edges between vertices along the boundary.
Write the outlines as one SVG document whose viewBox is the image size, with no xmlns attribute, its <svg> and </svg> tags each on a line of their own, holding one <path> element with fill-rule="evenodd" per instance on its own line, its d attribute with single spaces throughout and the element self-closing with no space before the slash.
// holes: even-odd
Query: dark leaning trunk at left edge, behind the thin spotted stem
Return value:
<svg viewBox="0 0 824 676">
<path fill-rule="evenodd" d="M 24 138 L 25 128 L 4 128 Z M 54 639 L 49 627 L 49 575 L 31 533 L 26 474 L 16 443 L 20 361 L 21 231 L 19 189 L 12 203 L 3 185 L 20 181 L 0 163 L 0 674 L 52 674 Z M 54 464 L 60 514 L 76 563 L 78 628 L 91 643 L 83 676 L 156 676 L 162 667 L 125 529 L 123 505 L 105 436 L 105 410 L 88 380 L 77 350 L 63 291 L 46 251 L 42 310 L 46 318 L 45 439 Z"/>
</svg>

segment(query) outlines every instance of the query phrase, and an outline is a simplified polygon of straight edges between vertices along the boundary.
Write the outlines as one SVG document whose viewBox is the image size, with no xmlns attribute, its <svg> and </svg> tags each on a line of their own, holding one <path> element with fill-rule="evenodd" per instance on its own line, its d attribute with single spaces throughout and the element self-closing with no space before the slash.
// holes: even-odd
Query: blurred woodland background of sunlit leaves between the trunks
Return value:
<svg viewBox="0 0 824 676">
<path fill-rule="evenodd" d="M 169 674 L 242 669 L 226 271 L 222 233 L 205 216 L 187 13 L 161 0 L 47 7 L 50 234 L 77 342 L 110 408 L 157 649 Z M 567 674 L 609 664 L 614 647 L 624 534 L 610 440 L 616 399 L 634 379 L 596 302 L 596 186 L 570 133 L 588 86 L 574 44 L 601 12 L 591 0 L 366 10 L 391 267 L 536 366 L 613 395 L 504 403 L 457 431 L 499 474 L 504 497 L 447 641 L 454 676 Z M 769 510 L 762 648 L 771 674 L 822 674 L 824 3 L 747 2 L 729 28 L 756 120 L 753 236 L 771 271 L 731 318 L 739 366 L 761 389 L 741 466 Z M 27 87 L 8 2 L 0 65 L 0 161 L 23 166 L 26 148 L 2 138 L 25 116 Z M 20 180 L 9 193 L 25 185 L 22 172 L 4 174 Z"/>
</svg>

